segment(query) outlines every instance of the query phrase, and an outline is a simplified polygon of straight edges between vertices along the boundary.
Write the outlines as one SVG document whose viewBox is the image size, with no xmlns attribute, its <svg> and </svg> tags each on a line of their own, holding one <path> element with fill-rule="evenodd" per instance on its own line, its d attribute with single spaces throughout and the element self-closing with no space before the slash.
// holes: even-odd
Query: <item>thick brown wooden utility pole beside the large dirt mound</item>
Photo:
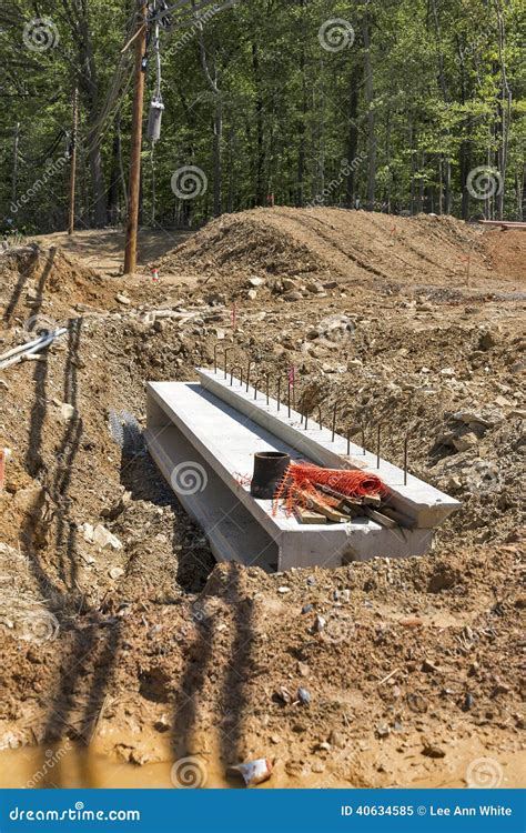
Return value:
<svg viewBox="0 0 526 833">
<path fill-rule="evenodd" d="M 135 84 L 133 91 L 132 147 L 130 159 L 130 190 L 128 199 L 128 225 L 124 251 L 124 274 L 136 268 L 136 232 L 139 227 L 139 192 L 141 181 L 142 108 L 144 100 L 144 72 L 142 59 L 146 47 L 146 3 L 138 0 L 135 37 Z"/>
</svg>

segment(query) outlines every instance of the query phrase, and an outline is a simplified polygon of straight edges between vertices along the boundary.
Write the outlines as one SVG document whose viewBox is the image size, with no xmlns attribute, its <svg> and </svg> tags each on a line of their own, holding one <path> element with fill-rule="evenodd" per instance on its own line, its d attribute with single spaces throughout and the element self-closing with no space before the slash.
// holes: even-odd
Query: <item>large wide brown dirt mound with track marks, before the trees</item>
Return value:
<svg viewBox="0 0 526 833">
<path fill-rule="evenodd" d="M 489 259 L 488 232 L 452 217 L 344 209 L 254 209 L 209 223 L 160 262 L 164 272 L 458 285 L 514 279 Z"/>
</svg>

